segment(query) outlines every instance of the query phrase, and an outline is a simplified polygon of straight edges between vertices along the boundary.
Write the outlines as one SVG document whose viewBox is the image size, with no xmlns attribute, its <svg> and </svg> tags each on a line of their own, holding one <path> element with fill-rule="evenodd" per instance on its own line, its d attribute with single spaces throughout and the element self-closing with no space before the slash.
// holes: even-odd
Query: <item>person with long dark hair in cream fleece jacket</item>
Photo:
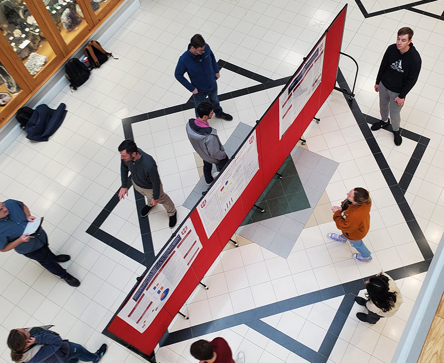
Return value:
<svg viewBox="0 0 444 363">
<path fill-rule="evenodd" d="M 363 322 L 376 324 L 380 318 L 390 318 L 399 310 L 404 302 L 401 291 L 395 281 L 386 273 L 370 277 L 365 281 L 366 299 L 360 296 L 355 301 L 368 309 L 368 314 L 356 313 L 356 317 Z"/>
</svg>

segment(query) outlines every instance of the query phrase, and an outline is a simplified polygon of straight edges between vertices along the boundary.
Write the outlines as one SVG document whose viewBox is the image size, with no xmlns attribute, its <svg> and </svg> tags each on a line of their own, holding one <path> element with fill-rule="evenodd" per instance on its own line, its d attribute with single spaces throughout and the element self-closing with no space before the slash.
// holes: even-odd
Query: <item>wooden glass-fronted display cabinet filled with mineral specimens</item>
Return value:
<svg viewBox="0 0 444 363">
<path fill-rule="evenodd" d="M 12 93 L 5 84 L 0 86 L 0 92 L 12 96 L 11 101 L 0 106 L 0 128 L 123 1 L 0 0 L 0 63 L 20 87 L 20 91 Z M 38 55 L 31 56 L 32 53 Z M 46 56 L 43 65 L 41 56 Z M 25 64 L 30 57 L 37 59 L 37 65 L 32 63 L 28 71 Z"/>
</svg>

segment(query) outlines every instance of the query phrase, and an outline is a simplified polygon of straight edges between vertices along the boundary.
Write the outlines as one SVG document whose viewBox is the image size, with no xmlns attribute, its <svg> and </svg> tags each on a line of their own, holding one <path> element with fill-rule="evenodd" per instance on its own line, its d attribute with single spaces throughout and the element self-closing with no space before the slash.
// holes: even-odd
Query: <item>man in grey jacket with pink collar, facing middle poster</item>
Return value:
<svg viewBox="0 0 444 363">
<path fill-rule="evenodd" d="M 214 115 L 213 105 L 210 102 L 201 102 L 196 111 L 199 117 L 190 118 L 187 123 L 187 135 L 194 150 L 203 159 L 203 175 L 206 184 L 210 185 L 213 181 L 213 164 L 220 170 L 229 159 L 217 136 L 217 130 L 208 124 L 208 120 Z"/>
</svg>

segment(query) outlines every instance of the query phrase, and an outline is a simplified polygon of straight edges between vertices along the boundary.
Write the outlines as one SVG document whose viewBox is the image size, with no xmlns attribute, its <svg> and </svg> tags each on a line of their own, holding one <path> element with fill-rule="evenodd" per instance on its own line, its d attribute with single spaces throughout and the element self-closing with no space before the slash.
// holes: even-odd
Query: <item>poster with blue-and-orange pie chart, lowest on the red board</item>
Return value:
<svg viewBox="0 0 444 363">
<path fill-rule="evenodd" d="M 143 333 L 201 250 L 200 239 L 188 218 L 146 273 L 118 317 Z"/>
</svg>

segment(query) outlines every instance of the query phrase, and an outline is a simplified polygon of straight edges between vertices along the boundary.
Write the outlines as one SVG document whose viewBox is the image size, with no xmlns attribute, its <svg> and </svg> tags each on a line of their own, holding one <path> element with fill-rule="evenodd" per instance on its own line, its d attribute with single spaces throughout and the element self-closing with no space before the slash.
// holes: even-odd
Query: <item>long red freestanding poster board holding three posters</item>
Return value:
<svg viewBox="0 0 444 363">
<path fill-rule="evenodd" d="M 249 179 L 240 196 L 233 200 L 233 204 L 218 223 L 215 230 L 209 231 L 204 225 L 206 222 L 202 219 L 202 214 L 198 212 L 199 203 L 203 203 L 205 197 L 202 198 L 190 212 L 186 221 L 184 221 L 185 224 L 191 223 L 193 225 L 196 240 L 198 240 L 197 245 L 200 244 L 199 246 L 201 247 L 196 248 L 196 245 L 193 244 L 193 248 L 198 251 L 198 253 L 196 252 L 197 255 L 190 260 L 192 263 L 190 262 L 190 266 L 183 273 L 183 277 L 177 286 L 170 291 L 168 299 L 165 299 L 166 302 L 163 305 L 159 305 L 152 321 L 144 326 L 143 329 L 140 327 L 136 329 L 134 327 L 135 323 L 130 325 L 125 319 L 118 316 L 131 299 L 135 300 L 134 292 L 138 289 L 141 291 L 140 286 L 143 285 L 143 279 L 145 278 L 143 277 L 134 287 L 124 304 L 122 304 L 112 321 L 109 322 L 103 332 L 104 334 L 145 357 L 153 352 L 173 318 L 226 246 L 229 238 L 240 226 L 273 175 L 295 147 L 320 106 L 334 89 L 346 11 L 347 5 L 341 10 L 325 33 L 322 34 L 319 41 L 307 57 L 304 58 L 304 62 L 290 79 L 287 86 L 273 101 L 255 129 L 246 138 L 244 144 L 248 140 L 251 142 L 251 136 L 255 133 L 258 168 L 255 170 L 252 178 Z M 310 87 L 305 87 L 307 83 L 311 86 L 311 89 Z M 307 99 L 304 100 L 303 97 Z M 304 102 L 301 103 L 301 100 L 304 100 Z M 292 102 L 291 107 L 289 102 Z M 293 112 L 294 117 L 289 118 L 289 115 L 292 114 L 291 112 Z M 242 146 L 239 150 L 241 148 Z M 235 159 L 236 157 L 237 154 L 235 154 Z M 218 179 L 224 176 L 226 170 L 224 169 Z M 215 187 L 216 185 L 211 188 Z M 179 238 L 181 231 L 185 233 L 184 223 L 181 224 L 176 234 L 165 245 L 159 256 L 165 250 L 172 247 L 175 238 Z M 171 251 L 173 251 L 173 248 L 171 248 Z M 176 252 L 176 249 L 174 249 L 174 252 Z M 152 269 L 153 267 L 150 267 L 144 276 L 149 275 Z M 147 293 L 150 286 L 148 285 L 143 291 Z M 167 296 L 164 291 L 161 295 Z M 132 303 L 134 304 L 134 301 Z M 136 309 L 137 304 L 134 309 Z"/>
</svg>

